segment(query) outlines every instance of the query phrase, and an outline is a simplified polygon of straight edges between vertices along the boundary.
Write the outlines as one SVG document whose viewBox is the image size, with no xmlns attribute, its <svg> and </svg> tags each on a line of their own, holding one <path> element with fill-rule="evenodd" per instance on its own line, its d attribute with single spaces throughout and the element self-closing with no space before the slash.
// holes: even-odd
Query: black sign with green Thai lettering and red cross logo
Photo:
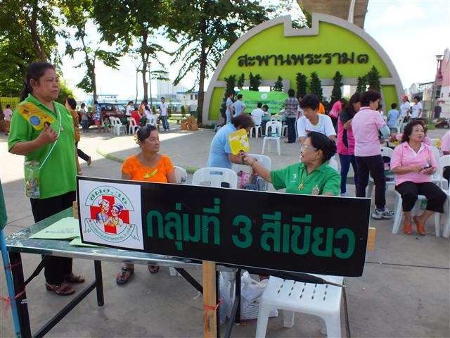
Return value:
<svg viewBox="0 0 450 338">
<path fill-rule="evenodd" d="M 371 199 L 77 177 L 82 242 L 361 276 Z"/>
</svg>

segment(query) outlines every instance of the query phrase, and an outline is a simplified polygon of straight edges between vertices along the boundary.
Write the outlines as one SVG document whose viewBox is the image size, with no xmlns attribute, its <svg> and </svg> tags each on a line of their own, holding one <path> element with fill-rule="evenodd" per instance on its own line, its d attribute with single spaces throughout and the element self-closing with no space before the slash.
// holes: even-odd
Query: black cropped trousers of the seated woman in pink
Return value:
<svg viewBox="0 0 450 338">
<path fill-rule="evenodd" d="M 403 182 L 395 187 L 397 192 L 401 194 L 401 207 L 403 211 L 411 211 L 416 204 L 417 195 L 425 195 L 427 198 L 427 210 L 437 213 L 444 212 L 444 203 L 447 195 L 432 182 L 414 183 Z"/>
</svg>

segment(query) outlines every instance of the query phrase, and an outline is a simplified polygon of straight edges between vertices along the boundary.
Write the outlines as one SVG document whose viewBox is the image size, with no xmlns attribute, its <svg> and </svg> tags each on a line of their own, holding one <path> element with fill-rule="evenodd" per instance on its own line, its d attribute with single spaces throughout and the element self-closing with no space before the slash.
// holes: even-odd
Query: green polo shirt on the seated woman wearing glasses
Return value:
<svg viewBox="0 0 450 338">
<path fill-rule="evenodd" d="M 330 192 L 338 196 L 340 189 L 340 175 L 327 163 L 312 170 L 309 175 L 303 163 L 288 165 L 286 168 L 273 170 L 271 180 L 276 190 L 286 188 L 286 192 L 290 194 L 321 195 Z"/>
</svg>

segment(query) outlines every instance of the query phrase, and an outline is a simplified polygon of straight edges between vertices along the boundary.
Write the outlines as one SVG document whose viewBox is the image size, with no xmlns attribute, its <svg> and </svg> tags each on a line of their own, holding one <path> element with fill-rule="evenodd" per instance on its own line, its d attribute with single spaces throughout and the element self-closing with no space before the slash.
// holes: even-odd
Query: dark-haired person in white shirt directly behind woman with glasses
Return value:
<svg viewBox="0 0 450 338">
<path fill-rule="evenodd" d="M 297 120 L 297 134 L 300 144 L 307 138 L 308 132 L 320 132 L 328 139 L 336 139 L 336 131 L 330 116 L 319 114 L 319 98 L 314 94 L 304 96 L 300 101 L 303 116 Z"/>
</svg>

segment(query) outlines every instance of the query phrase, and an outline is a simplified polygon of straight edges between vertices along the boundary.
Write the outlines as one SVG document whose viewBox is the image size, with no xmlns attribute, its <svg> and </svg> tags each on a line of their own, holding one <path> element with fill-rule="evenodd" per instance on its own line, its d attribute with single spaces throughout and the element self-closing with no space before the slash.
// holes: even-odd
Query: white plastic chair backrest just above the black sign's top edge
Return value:
<svg viewBox="0 0 450 338">
<path fill-rule="evenodd" d="M 192 184 L 236 189 L 238 175 L 229 168 L 200 168 L 192 176 Z"/>
</svg>

